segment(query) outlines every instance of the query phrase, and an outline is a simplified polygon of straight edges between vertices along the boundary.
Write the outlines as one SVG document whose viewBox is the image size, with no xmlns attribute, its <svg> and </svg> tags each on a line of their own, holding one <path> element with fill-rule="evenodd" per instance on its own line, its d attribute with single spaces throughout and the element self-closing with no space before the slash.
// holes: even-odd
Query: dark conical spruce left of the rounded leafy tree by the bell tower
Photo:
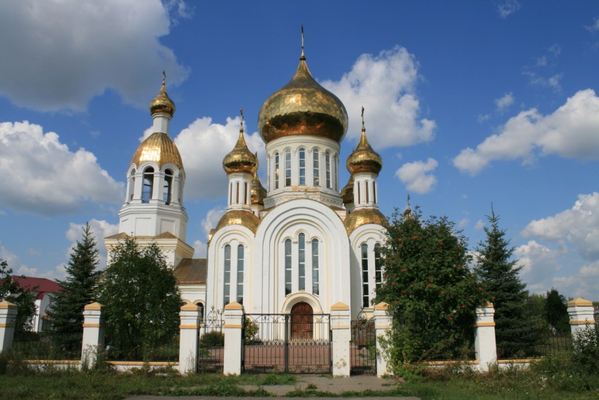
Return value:
<svg viewBox="0 0 599 400">
<path fill-rule="evenodd" d="M 87 223 L 81 239 L 70 253 L 66 280 L 58 280 L 61 292 L 54 295 L 48 311 L 56 338 L 68 349 L 80 346 L 83 334 L 83 308 L 97 301 L 98 249 Z"/>
</svg>

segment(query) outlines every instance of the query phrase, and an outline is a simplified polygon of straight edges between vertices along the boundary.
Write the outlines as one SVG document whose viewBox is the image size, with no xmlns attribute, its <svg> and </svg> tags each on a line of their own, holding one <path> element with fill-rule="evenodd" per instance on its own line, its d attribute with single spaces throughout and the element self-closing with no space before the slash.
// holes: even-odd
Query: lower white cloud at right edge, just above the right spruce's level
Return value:
<svg viewBox="0 0 599 400">
<path fill-rule="evenodd" d="M 533 220 L 521 232 L 523 237 L 565 240 L 587 260 L 599 260 L 599 193 L 579 194 L 569 210 Z"/>
</svg>

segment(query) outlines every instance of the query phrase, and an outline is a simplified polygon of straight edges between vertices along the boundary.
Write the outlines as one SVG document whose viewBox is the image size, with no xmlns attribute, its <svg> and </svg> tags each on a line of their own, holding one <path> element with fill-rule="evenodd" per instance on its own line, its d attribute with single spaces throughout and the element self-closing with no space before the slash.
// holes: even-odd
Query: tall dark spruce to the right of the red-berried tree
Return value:
<svg viewBox="0 0 599 400">
<path fill-rule="evenodd" d="M 499 227 L 499 215 L 491 205 L 487 215 L 490 227 L 485 227 L 486 239 L 476 251 L 476 273 L 490 294 L 495 306 L 495 339 L 498 356 L 529 355 L 529 348 L 538 337 L 526 314 L 528 292 L 520 279 L 521 266 L 513 259 L 514 247 Z"/>
</svg>

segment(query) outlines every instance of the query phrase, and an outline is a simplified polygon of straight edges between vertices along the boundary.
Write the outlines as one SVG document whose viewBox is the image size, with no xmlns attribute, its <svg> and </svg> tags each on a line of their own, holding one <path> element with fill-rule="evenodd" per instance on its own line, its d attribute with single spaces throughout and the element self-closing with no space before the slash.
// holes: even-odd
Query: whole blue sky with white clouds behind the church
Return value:
<svg viewBox="0 0 599 400">
<path fill-rule="evenodd" d="M 409 193 L 474 249 L 493 202 L 531 292 L 599 300 L 596 1 L 4 1 L 0 258 L 61 277 L 86 221 L 106 256 L 163 69 L 203 256 L 239 109 L 264 166 L 258 111 L 295 72 L 302 24 L 312 75 L 350 116 L 342 161 L 366 108 L 385 215 Z"/>
</svg>

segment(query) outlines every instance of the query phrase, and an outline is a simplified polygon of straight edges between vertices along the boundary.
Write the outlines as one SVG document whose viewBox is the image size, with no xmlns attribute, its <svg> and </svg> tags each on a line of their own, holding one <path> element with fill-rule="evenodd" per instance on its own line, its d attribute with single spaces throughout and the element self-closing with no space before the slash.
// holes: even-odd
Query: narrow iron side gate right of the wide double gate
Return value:
<svg viewBox="0 0 599 400">
<path fill-rule="evenodd" d="M 367 319 L 364 315 L 364 318 L 352 320 L 350 357 L 352 375 L 376 375 L 376 335 L 372 318 Z"/>
</svg>

